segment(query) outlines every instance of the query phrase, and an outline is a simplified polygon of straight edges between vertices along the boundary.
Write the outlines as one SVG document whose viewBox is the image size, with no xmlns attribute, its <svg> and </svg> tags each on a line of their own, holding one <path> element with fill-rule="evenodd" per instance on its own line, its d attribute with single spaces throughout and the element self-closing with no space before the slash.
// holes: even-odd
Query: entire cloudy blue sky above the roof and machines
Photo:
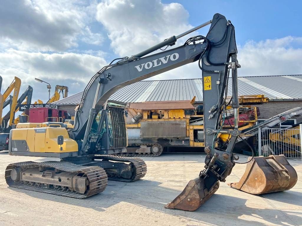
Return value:
<svg viewBox="0 0 302 226">
<path fill-rule="evenodd" d="M 178 35 L 220 13 L 236 30 L 239 76 L 302 73 L 302 1 L 14 0 L 0 8 L 0 75 L 33 101 L 48 97 L 38 77 L 82 91 L 101 67 Z M 206 35 L 208 27 L 196 34 Z M 187 39 L 189 36 L 185 37 Z M 181 45 L 184 40 L 179 40 Z M 199 78 L 196 63 L 149 78 Z M 52 90 L 53 92 L 54 90 Z"/>
</svg>

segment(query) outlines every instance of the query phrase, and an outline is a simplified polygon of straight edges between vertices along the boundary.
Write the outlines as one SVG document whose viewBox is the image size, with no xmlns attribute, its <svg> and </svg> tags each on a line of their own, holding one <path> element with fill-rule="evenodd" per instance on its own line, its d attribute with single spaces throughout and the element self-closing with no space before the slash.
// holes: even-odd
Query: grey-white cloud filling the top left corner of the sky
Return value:
<svg viewBox="0 0 302 226">
<path fill-rule="evenodd" d="M 99 45 L 100 34 L 85 25 L 93 20 L 96 2 L 14 0 L 0 7 L 0 47 L 30 51 L 65 51 L 77 40 Z M 99 40 L 97 41 L 97 38 Z"/>
</svg>

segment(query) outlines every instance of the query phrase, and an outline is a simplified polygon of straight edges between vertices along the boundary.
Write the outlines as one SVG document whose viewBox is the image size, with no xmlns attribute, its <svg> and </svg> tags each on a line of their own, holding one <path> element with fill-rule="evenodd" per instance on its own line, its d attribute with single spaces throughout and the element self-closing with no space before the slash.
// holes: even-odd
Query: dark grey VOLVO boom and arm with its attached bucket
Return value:
<svg viewBox="0 0 302 226">
<path fill-rule="evenodd" d="M 168 51 L 145 56 L 163 46 L 173 45 L 177 38 L 171 38 L 146 51 L 132 57 L 125 57 L 115 64 L 104 67 L 86 86 L 81 104 L 78 108 L 75 122 L 75 130 L 72 136 L 82 141 L 80 155 L 96 153 L 100 141 L 98 134 L 107 117 L 106 104 L 108 98 L 118 89 L 134 82 L 152 77 L 165 71 L 172 70 L 182 65 L 199 61 L 204 83 L 204 128 L 205 128 L 205 152 L 206 169 L 187 186 L 184 193 L 194 190 L 195 197 L 187 198 L 181 194 L 167 208 L 194 210 L 208 199 L 219 186 L 219 181 L 225 181 L 234 166 L 232 154 L 236 139 L 239 136 L 238 119 L 235 118 L 234 130 L 223 130 L 221 126 L 222 111 L 226 109 L 226 88 L 230 70 L 233 80 L 233 101 L 235 117 L 239 107 L 237 93 L 237 48 L 234 26 L 220 14 L 215 14 L 210 30 L 206 37 L 196 36 L 188 39 L 184 45 Z M 143 57 L 145 56 L 145 57 Z M 201 65 L 202 64 L 202 65 Z M 103 107 L 104 106 L 104 107 Z M 103 108 L 103 109 L 102 109 Z M 92 124 L 96 115 L 101 110 L 101 119 L 97 133 L 92 132 Z M 89 117 L 87 117 L 89 115 Z M 226 150 L 214 148 L 218 133 L 229 133 L 231 136 Z M 94 134 L 92 136 L 92 134 Z M 104 140 L 102 140 L 104 141 Z M 102 144 L 104 145 L 104 143 Z M 110 150 L 107 150 L 109 153 Z M 121 150 L 122 152 L 122 150 Z M 194 200 L 192 205 L 192 199 Z M 191 200 L 191 201 L 188 201 Z"/>
</svg>

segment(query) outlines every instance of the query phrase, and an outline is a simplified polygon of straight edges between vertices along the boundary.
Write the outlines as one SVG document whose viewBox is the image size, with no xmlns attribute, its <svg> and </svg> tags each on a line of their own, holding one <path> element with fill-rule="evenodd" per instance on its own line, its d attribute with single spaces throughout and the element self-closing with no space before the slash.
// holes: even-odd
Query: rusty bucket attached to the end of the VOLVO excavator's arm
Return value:
<svg viewBox="0 0 302 226">
<path fill-rule="evenodd" d="M 219 188 L 219 181 L 208 191 L 200 177 L 190 180 L 185 189 L 165 208 L 194 211 L 209 199 Z"/>
</svg>

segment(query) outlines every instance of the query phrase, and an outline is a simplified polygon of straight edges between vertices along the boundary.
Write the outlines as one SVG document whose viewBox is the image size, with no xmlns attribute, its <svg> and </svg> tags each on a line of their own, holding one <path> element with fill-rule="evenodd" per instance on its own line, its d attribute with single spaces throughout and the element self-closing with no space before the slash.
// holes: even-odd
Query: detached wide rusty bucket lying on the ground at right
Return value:
<svg viewBox="0 0 302 226">
<path fill-rule="evenodd" d="M 284 155 L 259 156 L 247 163 L 246 171 L 230 187 L 259 195 L 289 190 L 297 183 L 297 173 Z"/>
</svg>

